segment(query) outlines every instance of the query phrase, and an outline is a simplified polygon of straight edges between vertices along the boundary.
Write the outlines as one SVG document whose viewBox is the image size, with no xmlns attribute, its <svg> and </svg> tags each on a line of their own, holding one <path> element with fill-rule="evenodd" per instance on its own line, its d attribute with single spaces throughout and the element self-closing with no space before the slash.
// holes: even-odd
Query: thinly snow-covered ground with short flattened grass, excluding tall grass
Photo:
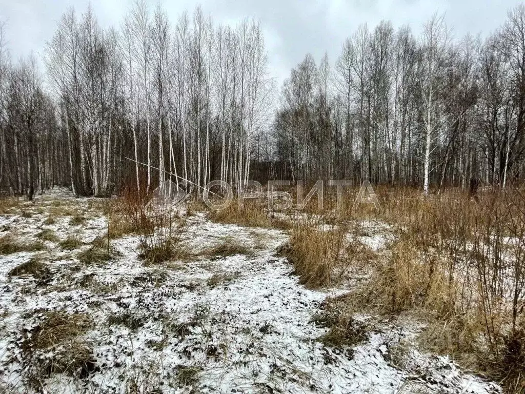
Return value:
<svg viewBox="0 0 525 394">
<path fill-rule="evenodd" d="M 70 225 L 64 216 L 44 224 L 57 199 L 90 219 Z M 353 348 L 324 345 L 318 338 L 327 328 L 312 317 L 341 290 L 313 291 L 298 283 L 276 256 L 287 240 L 283 231 L 211 223 L 197 214 L 183 234 L 193 251 L 232 239 L 254 254 L 146 267 L 137 237 L 124 236 L 112 241 L 119 252 L 114 260 L 86 265 L 77 254 L 107 230 L 106 218 L 89 208 L 88 199 L 53 190 L 25 209 L 31 217 L 0 216 L 1 235 L 29 242 L 53 229 L 62 240 L 76 235 L 86 245 L 64 251 L 46 241 L 44 251 L 0 255 L 0 392 L 500 392 L 444 357 L 411 349 L 403 368 L 392 362 L 392 349 L 415 335 L 408 325 L 370 323 L 365 340 Z M 381 225 L 364 226 L 373 231 L 363 242 L 381 248 L 386 238 L 374 235 Z M 8 275 L 34 255 L 47 263 L 45 276 Z M 92 364 L 76 376 L 35 373 L 68 344 L 27 359 L 24 343 L 49 310 L 90 317 L 74 340 L 90 349 Z"/>
</svg>

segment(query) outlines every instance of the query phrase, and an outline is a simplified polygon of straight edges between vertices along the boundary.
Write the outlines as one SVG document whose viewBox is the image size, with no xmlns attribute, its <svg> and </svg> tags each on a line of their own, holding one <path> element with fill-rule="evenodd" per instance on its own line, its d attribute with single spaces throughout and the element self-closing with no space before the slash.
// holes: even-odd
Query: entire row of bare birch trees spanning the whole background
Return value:
<svg viewBox="0 0 525 394">
<path fill-rule="evenodd" d="M 505 186 L 525 167 L 525 6 L 484 40 L 360 26 L 339 58 L 311 55 L 275 89 L 261 26 L 174 24 L 137 2 L 119 28 L 90 8 L 59 20 L 44 53 L 13 62 L 0 28 L 0 188 L 152 190 L 248 178 Z M 272 112 L 276 110 L 276 112 Z M 137 162 L 127 160 L 131 158 Z M 173 180 L 175 177 L 171 176 Z"/>
</svg>

